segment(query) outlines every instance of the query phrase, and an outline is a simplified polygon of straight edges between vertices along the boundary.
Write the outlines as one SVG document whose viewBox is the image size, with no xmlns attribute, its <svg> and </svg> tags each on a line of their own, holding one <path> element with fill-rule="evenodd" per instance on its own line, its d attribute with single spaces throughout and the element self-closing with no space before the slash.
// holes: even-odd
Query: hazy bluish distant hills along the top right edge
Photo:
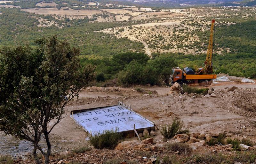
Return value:
<svg viewBox="0 0 256 164">
<path fill-rule="evenodd" d="M 186 6 L 256 6 L 256 0 L 114 0 L 130 5 L 145 7 L 186 7 Z"/>
</svg>

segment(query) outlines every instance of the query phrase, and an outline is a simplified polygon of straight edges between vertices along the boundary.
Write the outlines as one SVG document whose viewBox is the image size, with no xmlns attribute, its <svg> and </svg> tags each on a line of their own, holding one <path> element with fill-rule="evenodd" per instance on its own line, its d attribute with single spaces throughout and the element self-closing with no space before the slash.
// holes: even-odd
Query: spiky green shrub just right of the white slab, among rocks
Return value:
<svg viewBox="0 0 256 164">
<path fill-rule="evenodd" d="M 170 125 L 164 124 L 160 132 L 164 136 L 164 138 L 173 138 L 176 134 L 179 134 L 180 132 L 184 132 L 184 130 L 181 130 L 182 126 L 183 126 L 182 121 L 176 121 L 174 119 L 172 124 Z"/>
</svg>

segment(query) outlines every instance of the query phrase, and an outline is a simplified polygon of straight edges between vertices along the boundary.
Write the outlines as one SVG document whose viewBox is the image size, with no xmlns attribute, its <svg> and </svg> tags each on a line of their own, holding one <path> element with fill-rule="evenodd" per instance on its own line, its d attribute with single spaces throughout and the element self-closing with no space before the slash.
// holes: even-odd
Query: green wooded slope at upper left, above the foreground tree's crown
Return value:
<svg viewBox="0 0 256 164">
<path fill-rule="evenodd" d="M 16 46 L 31 43 L 43 36 L 57 35 L 59 39 L 68 40 L 71 45 L 81 49 L 81 55 L 112 56 L 126 51 L 142 51 L 140 42 L 127 38 L 116 38 L 111 34 L 97 32 L 103 28 L 129 25 L 125 22 L 90 22 L 92 19 L 59 20 L 52 16 L 44 16 L 20 11 L 19 8 L 1 8 L 0 14 L 0 46 Z M 40 27 L 37 18 L 54 20 L 56 26 Z M 63 26 L 59 28 L 58 26 Z"/>
</svg>

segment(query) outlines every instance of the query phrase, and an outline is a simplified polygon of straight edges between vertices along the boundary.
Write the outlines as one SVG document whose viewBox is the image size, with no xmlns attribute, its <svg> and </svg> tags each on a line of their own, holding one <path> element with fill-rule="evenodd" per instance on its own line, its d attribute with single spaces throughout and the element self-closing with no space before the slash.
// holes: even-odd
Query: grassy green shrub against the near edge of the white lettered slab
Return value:
<svg viewBox="0 0 256 164">
<path fill-rule="evenodd" d="M 121 134 L 117 133 L 116 128 L 116 130 L 103 130 L 102 133 L 97 132 L 94 134 L 94 136 L 90 137 L 90 142 L 96 149 L 113 149 L 117 145 L 120 138 Z"/>
</svg>

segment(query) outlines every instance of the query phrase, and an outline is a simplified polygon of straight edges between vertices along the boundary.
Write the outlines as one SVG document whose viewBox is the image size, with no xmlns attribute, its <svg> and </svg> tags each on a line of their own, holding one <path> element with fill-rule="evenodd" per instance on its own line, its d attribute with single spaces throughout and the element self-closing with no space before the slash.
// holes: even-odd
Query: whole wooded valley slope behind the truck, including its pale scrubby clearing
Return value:
<svg viewBox="0 0 256 164">
<path fill-rule="evenodd" d="M 75 1 L 70 1 L 69 5 L 73 3 Z M 144 13 L 138 10 L 136 13 L 130 8 L 129 10 L 110 9 L 109 12 L 99 11 L 99 14 L 72 17 L 72 15 L 65 15 L 63 9 L 61 12 L 64 15 L 39 15 L 21 11 L 20 8 L 1 7 L 0 9 L 0 48 L 27 44 L 36 46 L 34 44 L 36 39 L 57 35 L 58 39 L 66 40 L 72 46 L 80 48 L 79 58 L 83 66 L 86 64 L 95 66 L 97 74 L 95 85 L 99 86 L 168 84 L 172 67 L 196 68 L 202 65 L 206 57 L 211 19 L 200 18 L 198 21 L 197 16 L 194 16 L 195 18 L 192 16 L 208 12 L 207 8 L 187 10 L 190 16 L 179 15 L 184 19 L 183 21 L 180 17 L 164 19 L 163 23 L 178 22 L 167 26 L 150 25 L 151 22 L 163 21 L 155 17 L 155 13 L 162 14 L 163 11 L 145 11 Z M 58 11 L 56 8 L 54 10 Z M 250 14 L 253 9 L 245 11 L 244 8 L 236 10 L 221 8 L 218 10 L 224 14 L 221 13 L 216 19 L 213 56 L 215 73 L 223 72 L 234 76 L 256 78 L 256 19 L 253 15 L 255 13 Z M 80 11 L 83 12 L 83 10 Z M 92 10 L 85 11 L 91 12 Z M 117 11 L 121 11 L 122 14 L 114 13 Z M 164 11 L 164 14 L 172 16 L 173 11 Z M 211 14 L 214 12 L 211 10 Z M 241 15 L 236 15 L 238 12 Z M 77 14 L 78 11 L 74 13 Z M 141 17 L 141 14 L 153 14 L 153 17 L 132 20 L 135 15 L 133 17 L 131 14 L 139 14 L 138 16 Z M 122 20 L 125 16 L 131 19 Z M 103 21 L 103 18 L 108 17 L 115 19 Z M 116 18 L 120 20 L 116 21 Z M 142 27 L 141 25 L 145 23 L 150 26 Z M 103 29 L 112 33 L 103 33 Z M 124 35 L 118 37 L 121 33 Z M 145 39 L 147 36 L 153 39 Z M 146 46 L 143 45 L 143 41 L 152 51 L 151 56 L 145 54 Z M 159 46 L 156 46 L 157 44 Z"/>
</svg>

